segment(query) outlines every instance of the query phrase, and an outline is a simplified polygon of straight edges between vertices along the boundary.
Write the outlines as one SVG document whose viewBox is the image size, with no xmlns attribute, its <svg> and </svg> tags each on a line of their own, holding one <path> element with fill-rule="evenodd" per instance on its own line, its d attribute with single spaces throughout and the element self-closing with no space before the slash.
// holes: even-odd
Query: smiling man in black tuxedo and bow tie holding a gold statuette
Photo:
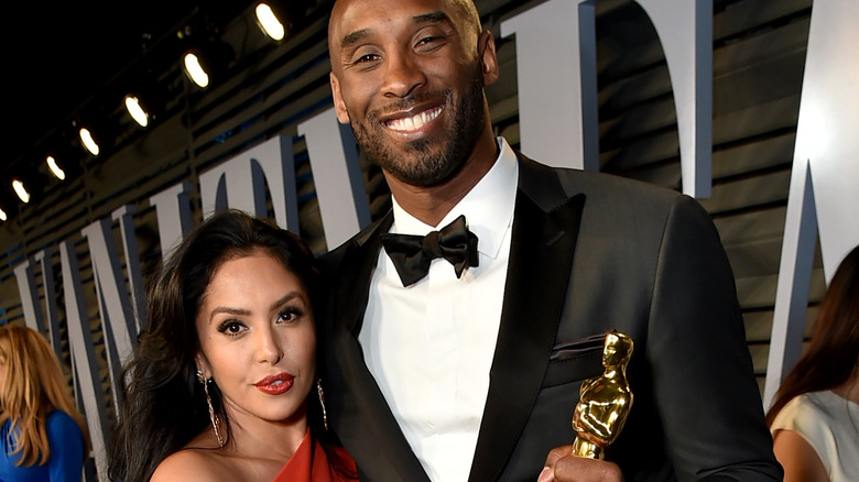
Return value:
<svg viewBox="0 0 859 482">
<path fill-rule="evenodd" d="M 328 417 L 361 480 L 781 478 L 698 204 L 496 139 L 494 41 L 470 0 L 338 0 L 328 45 L 338 119 L 393 197 L 325 256 Z M 611 330 L 635 343 L 632 412 L 606 461 L 573 457 Z"/>
</svg>

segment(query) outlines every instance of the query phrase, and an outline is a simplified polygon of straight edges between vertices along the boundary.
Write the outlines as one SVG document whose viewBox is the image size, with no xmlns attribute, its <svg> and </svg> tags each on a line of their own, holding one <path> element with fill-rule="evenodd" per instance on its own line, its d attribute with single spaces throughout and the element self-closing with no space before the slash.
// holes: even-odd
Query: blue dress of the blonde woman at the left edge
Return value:
<svg viewBox="0 0 859 482">
<path fill-rule="evenodd" d="M 84 435 L 80 427 L 65 412 L 54 410 L 47 415 L 45 429 L 51 445 L 51 458 L 44 465 L 18 467 L 21 453 L 10 456 L 14 450 L 14 435 L 11 440 L 7 420 L 0 429 L 0 482 L 79 482 L 84 470 Z"/>
</svg>

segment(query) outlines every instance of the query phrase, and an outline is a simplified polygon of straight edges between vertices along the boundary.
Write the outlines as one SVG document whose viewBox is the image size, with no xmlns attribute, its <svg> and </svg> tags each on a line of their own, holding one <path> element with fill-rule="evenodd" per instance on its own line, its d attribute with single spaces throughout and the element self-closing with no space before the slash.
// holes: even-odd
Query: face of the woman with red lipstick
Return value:
<svg viewBox="0 0 859 482">
<path fill-rule="evenodd" d="M 197 315 L 197 364 L 214 377 L 231 420 L 305 421 L 316 332 L 298 280 L 258 251 L 215 271 Z"/>
</svg>

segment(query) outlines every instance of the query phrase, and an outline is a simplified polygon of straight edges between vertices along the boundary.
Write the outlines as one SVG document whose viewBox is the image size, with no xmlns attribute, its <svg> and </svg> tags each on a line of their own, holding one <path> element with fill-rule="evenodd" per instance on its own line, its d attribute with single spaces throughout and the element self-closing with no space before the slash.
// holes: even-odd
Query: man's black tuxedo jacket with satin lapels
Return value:
<svg viewBox="0 0 859 482">
<path fill-rule="evenodd" d="M 520 155 L 510 264 L 470 481 L 534 481 L 572 443 L 581 381 L 605 333 L 635 346 L 634 401 L 606 458 L 627 481 L 781 480 L 752 374 L 733 276 L 693 199 Z M 427 481 L 358 333 L 392 213 L 324 256 L 328 419 L 365 481 Z M 444 482 L 444 481 L 442 481 Z"/>
</svg>

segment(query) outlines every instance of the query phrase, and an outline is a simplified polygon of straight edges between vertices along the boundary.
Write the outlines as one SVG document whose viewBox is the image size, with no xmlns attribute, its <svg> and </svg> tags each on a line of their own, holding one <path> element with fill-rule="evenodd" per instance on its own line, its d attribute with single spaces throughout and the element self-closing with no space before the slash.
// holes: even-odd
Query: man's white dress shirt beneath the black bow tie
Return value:
<svg viewBox="0 0 859 482">
<path fill-rule="evenodd" d="M 499 157 L 438 227 L 393 199 L 390 232 L 425 235 L 460 215 L 477 234 L 479 265 L 461 278 L 444 259 L 404 288 L 382 249 L 361 332 L 365 361 L 433 481 L 468 480 L 489 391 L 504 297 L 519 168 L 498 138 Z"/>
</svg>

